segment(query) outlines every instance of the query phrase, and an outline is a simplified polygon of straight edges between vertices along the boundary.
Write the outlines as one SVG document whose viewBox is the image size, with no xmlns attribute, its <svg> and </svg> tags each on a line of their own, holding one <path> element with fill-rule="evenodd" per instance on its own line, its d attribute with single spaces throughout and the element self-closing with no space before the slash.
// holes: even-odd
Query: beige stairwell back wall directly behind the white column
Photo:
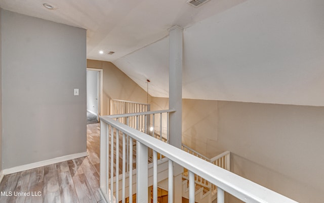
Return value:
<svg viewBox="0 0 324 203">
<path fill-rule="evenodd" d="M 169 109 L 169 99 L 152 97 L 152 111 Z M 164 123 L 167 118 L 164 117 Z M 223 151 L 215 147 L 217 142 L 217 101 L 182 99 L 182 143 L 200 154 L 213 158 Z"/>
</svg>

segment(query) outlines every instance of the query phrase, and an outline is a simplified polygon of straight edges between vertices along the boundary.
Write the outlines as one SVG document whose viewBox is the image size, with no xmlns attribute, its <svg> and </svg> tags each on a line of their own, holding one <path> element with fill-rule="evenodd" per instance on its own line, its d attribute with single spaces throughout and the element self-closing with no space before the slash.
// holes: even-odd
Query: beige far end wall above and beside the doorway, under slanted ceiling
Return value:
<svg viewBox="0 0 324 203">
<path fill-rule="evenodd" d="M 111 62 L 88 59 L 87 67 L 103 70 L 103 115 L 109 115 L 110 99 L 150 103 L 151 96 Z"/>
</svg>

